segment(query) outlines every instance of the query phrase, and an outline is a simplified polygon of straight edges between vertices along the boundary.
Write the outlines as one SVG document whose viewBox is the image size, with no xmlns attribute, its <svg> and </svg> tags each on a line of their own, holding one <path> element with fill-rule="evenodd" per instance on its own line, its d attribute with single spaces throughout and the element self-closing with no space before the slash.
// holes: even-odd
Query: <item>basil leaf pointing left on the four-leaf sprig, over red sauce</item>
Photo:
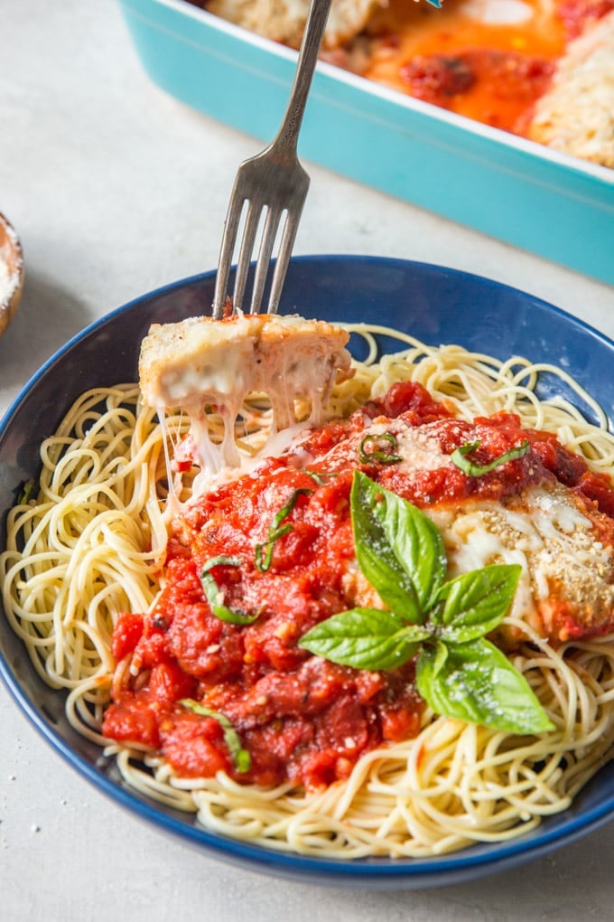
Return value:
<svg viewBox="0 0 614 922">
<path fill-rule="evenodd" d="M 303 634 L 298 645 L 309 653 L 356 669 L 394 669 L 431 636 L 427 629 L 407 624 L 392 611 L 349 609 L 320 621 Z"/>
</svg>

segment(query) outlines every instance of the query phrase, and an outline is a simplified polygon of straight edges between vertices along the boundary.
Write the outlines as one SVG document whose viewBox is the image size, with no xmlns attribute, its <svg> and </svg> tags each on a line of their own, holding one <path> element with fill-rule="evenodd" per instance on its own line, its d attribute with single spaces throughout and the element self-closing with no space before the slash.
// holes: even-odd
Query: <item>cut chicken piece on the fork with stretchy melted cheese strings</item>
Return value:
<svg viewBox="0 0 614 922">
<path fill-rule="evenodd" d="M 238 313 L 223 320 L 191 317 L 155 324 L 141 346 L 141 392 L 149 407 L 186 412 L 192 455 L 216 473 L 240 464 L 235 423 L 250 394 L 262 393 L 271 401 L 273 433 L 299 422 L 322 422 L 332 385 L 353 375 L 348 339 L 341 327 L 296 314 Z M 306 420 L 297 419 L 299 400 L 307 402 Z M 219 451 L 209 440 L 212 407 L 224 420 Z"/>
</svg>

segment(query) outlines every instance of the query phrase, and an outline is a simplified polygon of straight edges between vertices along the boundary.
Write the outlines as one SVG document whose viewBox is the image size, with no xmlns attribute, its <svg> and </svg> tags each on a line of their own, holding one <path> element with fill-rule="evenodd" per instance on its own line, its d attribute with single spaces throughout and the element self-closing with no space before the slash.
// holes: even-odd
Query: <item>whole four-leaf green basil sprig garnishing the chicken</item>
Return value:
<svg viewBox="0 0 614 922">
<path fill-rule="evenodd" d="M 525 677 L 486 639 L 514 600 L 520 565 L 446 581 L 433 521 L 362 471 L 354 473 L 350 508 L 356 561 L 387 608 L 342 611 L 298 645 L 358 669 L 399 668 L 415 656 L 418 691 L 435 714 L 506 733 L 554 729 Z"/>
</svg>

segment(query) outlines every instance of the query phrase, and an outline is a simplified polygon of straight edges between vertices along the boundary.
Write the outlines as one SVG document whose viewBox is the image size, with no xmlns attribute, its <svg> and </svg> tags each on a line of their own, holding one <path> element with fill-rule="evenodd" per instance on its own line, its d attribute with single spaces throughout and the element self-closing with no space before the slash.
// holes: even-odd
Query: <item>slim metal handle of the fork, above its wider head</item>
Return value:
<svg viewBox="0 0 614 922">
<path fill-rule="evenodd" d="M 276 152 L 282 156 L 291 156 L 296 153 L 298 134 L 303 124 L 307 96 L 318 64 L 319 48 L 326 21 L 329 18 L 331 3 L 332 0 L 311 0 L 311 6 L 309 6 L 303 40 L 298 52 L 295 79 L 290 90 L 290 99 L 279 131 L 269 146 L 269 150 L 275 148 Z"/>
</svg>

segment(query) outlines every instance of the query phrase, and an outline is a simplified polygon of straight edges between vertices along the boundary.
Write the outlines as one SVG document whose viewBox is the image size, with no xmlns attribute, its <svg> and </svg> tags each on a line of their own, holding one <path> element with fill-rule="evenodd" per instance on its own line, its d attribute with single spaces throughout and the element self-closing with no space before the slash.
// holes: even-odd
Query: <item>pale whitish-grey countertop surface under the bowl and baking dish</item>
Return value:
<svg viewBox="0 0 614 922">
<path fill-rule="evenodd" d="M 0 0 L 0 211 L 27 269 L 0 340 L 0 412 L 103 313 L 214 268 L 240 160 L 261 148 L 149 81 L 113 0 Z M 307 164 L 296 254 L 477 272 L 614 337 L 614 290 Z M 437 891 L 342 891 L 204 857 L 77 776 L 0 687 L 0 916 L 7 922 L 437 922 L 612 917 L 610 824 L 550 857 Z"/>
</svg>

